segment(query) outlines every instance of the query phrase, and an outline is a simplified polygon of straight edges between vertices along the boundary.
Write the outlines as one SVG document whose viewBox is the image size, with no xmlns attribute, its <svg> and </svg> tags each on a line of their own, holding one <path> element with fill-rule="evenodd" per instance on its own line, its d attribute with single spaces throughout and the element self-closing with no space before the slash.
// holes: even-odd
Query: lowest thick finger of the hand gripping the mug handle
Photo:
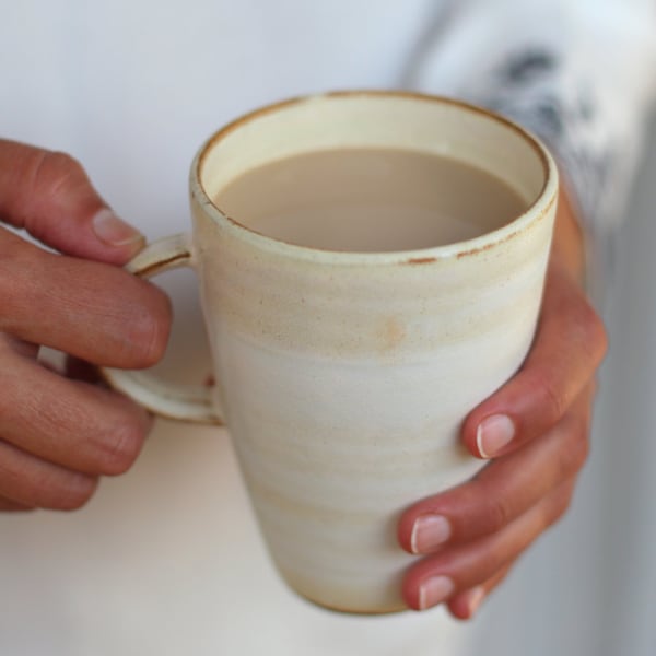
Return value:
<svg viewBox="0 0 656 656">
<path fill-rule="evenodd" d="M 97 479 L 68 470 L 0 441 L 0 496 L 17 505 L 60 511 L 82 507 Z"/>
</svg>

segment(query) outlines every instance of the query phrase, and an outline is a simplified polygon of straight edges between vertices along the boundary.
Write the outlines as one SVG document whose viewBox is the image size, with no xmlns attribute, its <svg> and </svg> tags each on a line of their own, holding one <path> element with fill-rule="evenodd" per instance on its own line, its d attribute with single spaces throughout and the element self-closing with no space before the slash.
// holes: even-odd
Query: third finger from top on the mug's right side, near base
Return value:
<svg viewBox="0 0 656 656">
<path fill-rule="evenodd" d="M 509 564 L 569 507 L 574 481 L 561 484 L 503 530 L 426 557 L 403 579 L 410 608 L 425 610 L 482 585 Z"/>
</svg>

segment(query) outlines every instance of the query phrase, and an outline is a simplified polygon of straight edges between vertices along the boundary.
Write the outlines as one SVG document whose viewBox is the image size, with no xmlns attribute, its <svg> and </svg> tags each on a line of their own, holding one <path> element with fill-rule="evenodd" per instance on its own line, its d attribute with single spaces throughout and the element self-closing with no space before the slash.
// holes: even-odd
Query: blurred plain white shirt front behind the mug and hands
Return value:
<svg viewBox="0 0 656 656">
<path fill-rule="evenodd" d="M 495 21 L 523 4 L 496 2 Z M 450 75 L 478 66 L 466 54 L 478 51 L 480 11 L 465 0 L 22 0 L 0 20 L 0 134 L 73 154 L 122 216 L 163 236 L 187 225 L 188 164 L 215 128 L 326 89 L 424 75 L 422 86 L 452 91 Z M 456 19 L 472 27 L 449 40 Z M 499 32 L 491 48 L 500 35 L 517 37 Z M 454 47 L 448 71 L 423 67 L 436 38 Z M 168 368 L 202 378 L 192 278 L 164 283 L 178 316 Z M 0 516 L 2 655 L 456 656 L 471 632 L 442 610 L 349 618 L 298 600 L 268 562 L 221 431 L 160 422 L 133 470 L 82 512 Z"/>
</svg>

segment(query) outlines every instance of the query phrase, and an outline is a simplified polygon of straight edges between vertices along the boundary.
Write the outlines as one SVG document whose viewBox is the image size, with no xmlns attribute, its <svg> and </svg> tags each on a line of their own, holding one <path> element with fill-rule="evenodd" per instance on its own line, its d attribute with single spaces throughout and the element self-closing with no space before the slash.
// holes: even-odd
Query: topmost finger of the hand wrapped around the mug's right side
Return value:
<svg viewBox="0 0 656 656">
<path fill-rule="evenodd" d="M 543 434 L 594 377 L 606 349 L 604 325 L 578 285 L 551 267 L 535 344 L 517 375 L 467 417 L 468 449 L 497 457 Z"/>
</svg>

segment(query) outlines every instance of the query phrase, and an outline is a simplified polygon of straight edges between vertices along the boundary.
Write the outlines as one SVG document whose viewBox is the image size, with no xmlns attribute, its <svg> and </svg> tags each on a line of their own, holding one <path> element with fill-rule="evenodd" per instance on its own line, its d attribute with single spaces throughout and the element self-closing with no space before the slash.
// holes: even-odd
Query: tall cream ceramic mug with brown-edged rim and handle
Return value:
<svg viewBox="0 0 656 656">
<path fill-rule="evenodd" d="M 362 254 L 262 236 L 212 200 L 263 163 L 360 147 L 472 164 L 527 209 L 467 242 Z M 155 413 L 226 424 L 270 554 L 294 590 L 341 611 L 402 610 L 412 557 L 397 543 L 397 520 L 481 466 L 459 429 L 528 351 L 557 195 L 555 166 L 536 139 L 461 103 L 350 92 L 255 112 L 196 156 L 191 234 L 155 242 L 129 265 L 144 277 L 196 270 L 216 384 L 106 376 Z"/>
</svg>

